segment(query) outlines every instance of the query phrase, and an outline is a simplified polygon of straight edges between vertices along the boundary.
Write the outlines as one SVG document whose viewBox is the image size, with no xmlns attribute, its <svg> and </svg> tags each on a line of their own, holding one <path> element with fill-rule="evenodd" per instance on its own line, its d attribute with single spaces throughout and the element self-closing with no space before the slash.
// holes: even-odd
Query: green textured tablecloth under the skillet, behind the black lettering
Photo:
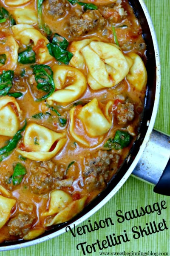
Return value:
<svg viewBox="0 0 170 256">
<path fill-rule="evenodd" d="M 161 55 L 161 98 L 155 128 L 166 134 L 170 134 L 170 0 L 145 0 L 145 3 L 153 20 Z M 117 210 L 121 209 L 122 212 L 127 212 L 147 205 L 153 205 L 156 202 L 160 203 L 162 200 L 166 202 L 167 209 L 163 209 L 160 215 L 154 212 L 133 220 L 125 220 L 123 223 L 117 222 Z M 82 256 L 82 250 L 76 249 L 77 244 L 85 241 L 87 241 L 87 244 L 92 244 L 96 242 L 96 239 L 99 239 L 99 241 L 105 240 L 106 236 L 112 235 L 113 233 L 115 233 L 115 236 L 122 233 L 125 234 L 124 230 L 126 230 L 130 241 L 126 243 L 122 242 L 122 244 L 103 250 L 97 249 L 96 252 L 87 253 L 86 255 L 115 255 L 115 252 L 124 253 L 123 255 L 131 252 L 131 255 L 135 255 L 136 253 L 138 256 L 170 255 L 170 197 L 153 193 L 153 187 L 151 185 L 130 177 L 119 192 L 102 209 L 91 216 L 89 220 L 94 224 L 94 221 L 98 222 L 108 217 L 112 219 L 113 226 L 109 225 L 109 227 L 82 236 L 77 235 L 76 238 L 70 232 L 64 233 L 50 241 L 45 241 L 31 247 L 0 252 L 0 256 Z M 153 223 L 154 221 L 158 225 L 163 219 L 166 221 L 167 229 L 148 236 L 144 235 L 139 239 L 133 238 L 134 233 L 131 230 L 133 226 L 139 227 L 140 225 L 143 228 L 146 226 L 146 223 Z M 88 224 L 88 220 L 82 224 Z"/>
</svg>

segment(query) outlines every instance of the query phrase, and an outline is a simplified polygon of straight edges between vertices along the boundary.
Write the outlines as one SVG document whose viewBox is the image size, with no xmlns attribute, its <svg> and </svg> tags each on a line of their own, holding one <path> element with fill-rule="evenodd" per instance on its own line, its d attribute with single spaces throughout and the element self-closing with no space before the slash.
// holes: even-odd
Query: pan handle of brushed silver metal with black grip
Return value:
<svg viewBox="0 0 170 256">
<path fill-rule="evenodd" d="M 132 175 L 156 185 L 154 192 L 170 195 L 170 137 L 153 130 Z"/>
</svg>

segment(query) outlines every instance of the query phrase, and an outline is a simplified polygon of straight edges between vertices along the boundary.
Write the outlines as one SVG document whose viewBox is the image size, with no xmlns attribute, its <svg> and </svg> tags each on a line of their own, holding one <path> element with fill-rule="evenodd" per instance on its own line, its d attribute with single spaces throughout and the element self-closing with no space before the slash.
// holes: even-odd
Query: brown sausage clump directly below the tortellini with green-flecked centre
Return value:
<svg viewBox="0 0 170 256">
<path fill-rule="evenodd" d="M 65 168 L 54 165 L 52 161 L 43 161 L 33 163 L 30 171 L 32 174 L 28 178 L 28 184 L 31 191 L 42 194 L 53 189 L 55 181 L 63 179 Z"/>
</svg>

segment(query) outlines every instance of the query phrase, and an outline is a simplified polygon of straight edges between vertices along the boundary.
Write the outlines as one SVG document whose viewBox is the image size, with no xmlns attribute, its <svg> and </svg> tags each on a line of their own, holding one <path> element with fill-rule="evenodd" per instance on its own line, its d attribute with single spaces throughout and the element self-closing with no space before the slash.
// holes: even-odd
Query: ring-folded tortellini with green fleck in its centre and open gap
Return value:
<svg viewBox="0 0 170 256">
<path fill-rule="evenodd" d="M 52 145 L 56 142 L 55 148 L 50 151 Z M 31 160 L 45 161 L 54 157 L 65 145 L 65 142 L 64 133 L 58 133 L 42 125 L 30 123 L 26 127 L 23 137 L 23 144 L 26 151 L 17 149 L 17 152 Z"/>
</svg>

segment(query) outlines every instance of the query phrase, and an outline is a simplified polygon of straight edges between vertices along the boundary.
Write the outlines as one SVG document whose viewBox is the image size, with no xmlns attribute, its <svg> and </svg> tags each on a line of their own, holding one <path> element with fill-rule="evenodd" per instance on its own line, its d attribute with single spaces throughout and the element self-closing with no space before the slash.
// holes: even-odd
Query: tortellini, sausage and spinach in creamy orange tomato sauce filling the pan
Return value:
<svg viewBox="0 0 170 256">
<path fill-rule="evenodd" d="M 138 135 L 145 51 L 128 0 L 0 0 L 0 242 L 105 189 Z"/>
</svg>

